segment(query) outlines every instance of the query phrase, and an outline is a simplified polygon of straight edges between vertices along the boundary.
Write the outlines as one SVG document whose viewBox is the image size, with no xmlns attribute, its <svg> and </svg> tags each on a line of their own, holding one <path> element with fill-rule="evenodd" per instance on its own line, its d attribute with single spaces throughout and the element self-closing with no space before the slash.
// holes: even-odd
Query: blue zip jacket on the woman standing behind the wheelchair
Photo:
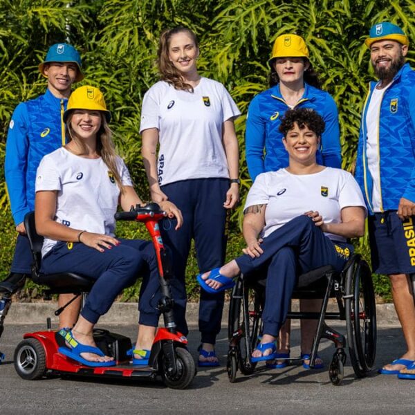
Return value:
<svg viewBox="0 0 415 415">
<path fill-rule="evenodd" d="M 298 107 L 317 111 L 326 122 L 317 163 L 328 167 L 342 167 L 338 109 L 326 91 L 305 84 L 304 95 Z M 279 92 L 279 84 L 259 93 L 250 102 L 246 120 L 246 163 L 252 181 L 258 174 L 275 172 L 288 166 L 288 154 L 282 142 L 279 125 L 284 113 L 290 109 Z M 265 149 L 265 156 L 264 156 Z"/>
</svg>

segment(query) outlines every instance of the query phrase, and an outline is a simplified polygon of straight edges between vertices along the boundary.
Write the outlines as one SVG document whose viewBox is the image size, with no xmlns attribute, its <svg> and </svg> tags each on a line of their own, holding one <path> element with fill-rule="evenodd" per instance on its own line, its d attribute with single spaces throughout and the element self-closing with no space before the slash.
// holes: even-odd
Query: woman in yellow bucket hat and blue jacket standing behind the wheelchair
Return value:
<svg viewBox="0 0 415 415">
<path fill-rule="evenodd" d="M 320 89 L 320 81 L 309 57 L 302 37 L 288 33 L 275 39 L 268 61 L 270 89 L 253 98 L 246 121 L 246 162 L 252 181 L 261 173 L 275 172 L 288 166 L 288 154 L 284 149 L 279 125 L 284 113 L 294 108 L 310 108 L 322 116 L 326 129 L 322 133 L 320 148 L 317 149 L 317 163 L 326 167 L 341 167 L 338 109 L 331 95 Z M 302 300 L 300 306 L 304 311 L 305 308 L 317 309 L 315 301 Z M 306 324 L 307 326 L 302 322 L 302 353 L 307 356 L 312 340 L 308 333 L 313 333 L 314 328 L 311 327 L 311 322 Z M 281 358 L 289 356 L 289 328 L 288 322 L 279 338 Z M 304 367 L 307 364 L 307 360 L 304 360 Z M 282 368 L 286 363 L 268 363 L 268 366 Z"/>
</svg>

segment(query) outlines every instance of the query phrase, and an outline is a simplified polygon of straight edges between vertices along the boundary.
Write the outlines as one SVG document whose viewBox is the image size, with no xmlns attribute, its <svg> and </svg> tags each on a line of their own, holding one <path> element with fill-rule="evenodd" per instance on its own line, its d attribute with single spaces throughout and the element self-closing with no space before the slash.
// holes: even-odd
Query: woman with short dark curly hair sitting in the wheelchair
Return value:
<svg viewBox="0 0 415 415">
<path fill-rule="evenodd" d="M 275 340 L 297 275 L 326 264 L 342 270 L 353 250 L 347 239 L 365 232 L 365 202 L 353 176 L 316 163 L 322 117 L 311 109 L 293 109 L 285 113 L 279 129 L 289 165 L 260 174 L 252 185 L 243 218 L 244 255 L 198 275 L 206 291 L 221 291 L 231 288 L 239 273 L 267 268 L 263 333 L 252 362 L 281 357 Z M 303 357 L 312 345 L 311 338 L 305 340 Z"/>
</svg>

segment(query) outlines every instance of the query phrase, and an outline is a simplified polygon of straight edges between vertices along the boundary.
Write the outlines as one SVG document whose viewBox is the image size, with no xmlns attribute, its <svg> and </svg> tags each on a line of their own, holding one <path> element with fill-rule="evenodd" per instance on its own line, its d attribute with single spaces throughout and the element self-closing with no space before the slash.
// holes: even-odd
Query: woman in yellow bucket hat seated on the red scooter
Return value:
<svg viewBox="0 0 415 415">
<path fill-rule="evenodd" d="M 96 282 L 66 339 L 64 354 L 88 366 L 112 366 L 93 340 L 93 326 L 123 288 L 143 276 L 140 329 L 133 364 L 145 365 L 158 325 L 158 311 L 150 304 L 158 291 L 156 254 L 151 242 L 116 239 L 118 203 L 123 210 L 141 199 L 133 189 L 124 162 L 111 140 L 107 111 L 99 89 L 81 86 L 64 113 L 68 143 L 42 159 L 37 170 L 35 221 L 44 236 L 42 272 L 80 273 Z M 172 203 L 160 203 L 169 217 L 183 221 Z"/>
</svg>

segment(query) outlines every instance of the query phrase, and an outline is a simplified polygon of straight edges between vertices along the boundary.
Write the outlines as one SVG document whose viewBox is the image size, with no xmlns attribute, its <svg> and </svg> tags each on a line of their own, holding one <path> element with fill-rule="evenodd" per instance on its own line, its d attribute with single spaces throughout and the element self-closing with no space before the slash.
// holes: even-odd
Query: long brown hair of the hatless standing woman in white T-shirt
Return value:
<svg viewBox="0 0 415 415">
<path fill-rule="evenodd" d="M 169 83 L 170 85 L 173 85 L 175 89 L 193 92 L 192 85 L 187 84 L 183 80 L 180 71 L 178 71 L 174 64 L 172 64 L 172 61 L 169 57 L 170 39 L 172 39 L 173 35 L 177 35 L 177 33 L 183 32 L 187 33 L 187 35 L 192 38 L 196 48 L 199 49 L 199 43 L 197 42 L 196 35 L 192 32 L 192 30 L 183 26 L 164 30 L 160 35 L 160 42 L 158 44 L 157 65 L 161 80 Z"/>
</svg>

